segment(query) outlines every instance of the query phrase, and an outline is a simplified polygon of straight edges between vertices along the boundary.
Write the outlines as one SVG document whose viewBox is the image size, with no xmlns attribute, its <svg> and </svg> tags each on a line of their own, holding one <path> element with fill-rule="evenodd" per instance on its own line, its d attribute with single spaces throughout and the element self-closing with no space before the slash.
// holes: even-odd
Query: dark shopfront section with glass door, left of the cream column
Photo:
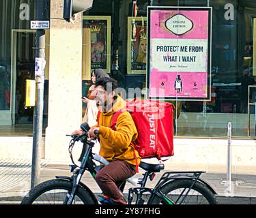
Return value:
<svg viewBox="0 0 256 218">
<path fill-rule="evenodd" d="M 35 78 L 34 1 L 0 1 L 1 7 L 1 135 L 31 135 L 33 108 L 25 106 L 26 80 Z M 48 33 L 47 33 L 48 35 Z M 44 127 L 47 120 L 48 80 L 45 83 Z"/>
</svg>

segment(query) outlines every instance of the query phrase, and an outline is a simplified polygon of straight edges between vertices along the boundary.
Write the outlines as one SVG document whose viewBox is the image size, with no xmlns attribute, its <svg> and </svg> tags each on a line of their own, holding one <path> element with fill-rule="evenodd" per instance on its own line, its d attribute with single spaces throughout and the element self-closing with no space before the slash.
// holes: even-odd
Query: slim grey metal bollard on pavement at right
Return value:
<svg viewBox="0 0 256 218">
<path fill-rule="evenodd" d="M 231 193 L 231 130 L 232 123 L 227 124 L 227 193 Z"/>
</svg>

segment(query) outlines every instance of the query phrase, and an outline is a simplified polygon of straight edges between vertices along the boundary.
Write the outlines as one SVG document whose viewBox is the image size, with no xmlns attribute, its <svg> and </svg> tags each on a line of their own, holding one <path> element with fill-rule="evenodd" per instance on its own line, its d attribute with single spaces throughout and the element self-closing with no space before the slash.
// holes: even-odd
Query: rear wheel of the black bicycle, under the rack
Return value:
<svg viewBox="0 0 256 218">
<path fill-rule="evenodd" d="M 190 189 L 193 182 L 188 179 L 175 180 L 167 183 L 160 190 L 174 204 L 218 204 L 216 196 L 206 185 L 197 181 Z M 154 196 L 151 204 L 167 204 L 167 202 L 158 196 Z"/>
</svg>

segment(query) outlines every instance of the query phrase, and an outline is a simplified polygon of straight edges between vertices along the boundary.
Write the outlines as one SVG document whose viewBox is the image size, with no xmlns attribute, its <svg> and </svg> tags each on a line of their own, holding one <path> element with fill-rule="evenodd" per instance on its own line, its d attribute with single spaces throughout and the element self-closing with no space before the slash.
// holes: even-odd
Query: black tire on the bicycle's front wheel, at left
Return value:
<svg viewBox="0 0 256 218">
<path fill-rule="evenodd" d="M 58 188 L 72 190 L 72 182 L 61 179 L 53 179 L 40 183 L 29 191 L 27 196 L 23 198 L 21 204 L 33 204 L 33 202 L 46 191 L 51 191 Z M 78 196 L 84 204 L 95 204 L 94 198 L 91 197 L 90 193 L 81 185 L 77 187 L 76 196 Z"/>
</svg>

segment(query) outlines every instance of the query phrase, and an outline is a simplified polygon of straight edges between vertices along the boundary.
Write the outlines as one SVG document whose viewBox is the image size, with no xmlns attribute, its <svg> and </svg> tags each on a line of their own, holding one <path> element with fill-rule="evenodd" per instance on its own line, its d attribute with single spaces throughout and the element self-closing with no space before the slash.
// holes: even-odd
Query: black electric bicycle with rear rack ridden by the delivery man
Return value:
<svg viewBox="0 0 256 218">
<path fill-rule="evenodd" d="M 94 142 L 87 138 L 89 130 L 87 123 L 83 123 L 81 129 L 83 134 L 71 136 L 72 140 L 69 144 L 70 158 L 73 163 L 70 165 L 72 176 L 56 176 L 53 180 L 33 187 L 21 204 L 99 204 L 94 193 L 81 182 L 81 178 L 87 170 L 95 179 L 98 170 L 104 166 L 97 166 L 94 161 L 103 165 L 109 162 L 100 155 L 92 153 Z M 81 166 L 77 166 L 72 157 L 72 149 L 78 141 L 83 142 Z M 148 178 L 152 181 L 156 172 L 160 172 L 165 166 L 162 163 L 152 164 L 141 161 L 139 167 L 145 170 L 143 178 L 126 179 L 132 185 L 140 185 L 140 187 L 128 189 L 128 204 L 144 204 L 143 196 L 146 193 L 150 193 L 147 204 L 218 204 L 214 189 L 199 178 L 204 171 L 165 172 L 154 188 L 148 188 L 145 187 Z M 126 181 L 117 184 L 121 192 L 124 191 Z M 133 199 L 134 196 L 136 196 L 135 199 Z"/>
</svg>

